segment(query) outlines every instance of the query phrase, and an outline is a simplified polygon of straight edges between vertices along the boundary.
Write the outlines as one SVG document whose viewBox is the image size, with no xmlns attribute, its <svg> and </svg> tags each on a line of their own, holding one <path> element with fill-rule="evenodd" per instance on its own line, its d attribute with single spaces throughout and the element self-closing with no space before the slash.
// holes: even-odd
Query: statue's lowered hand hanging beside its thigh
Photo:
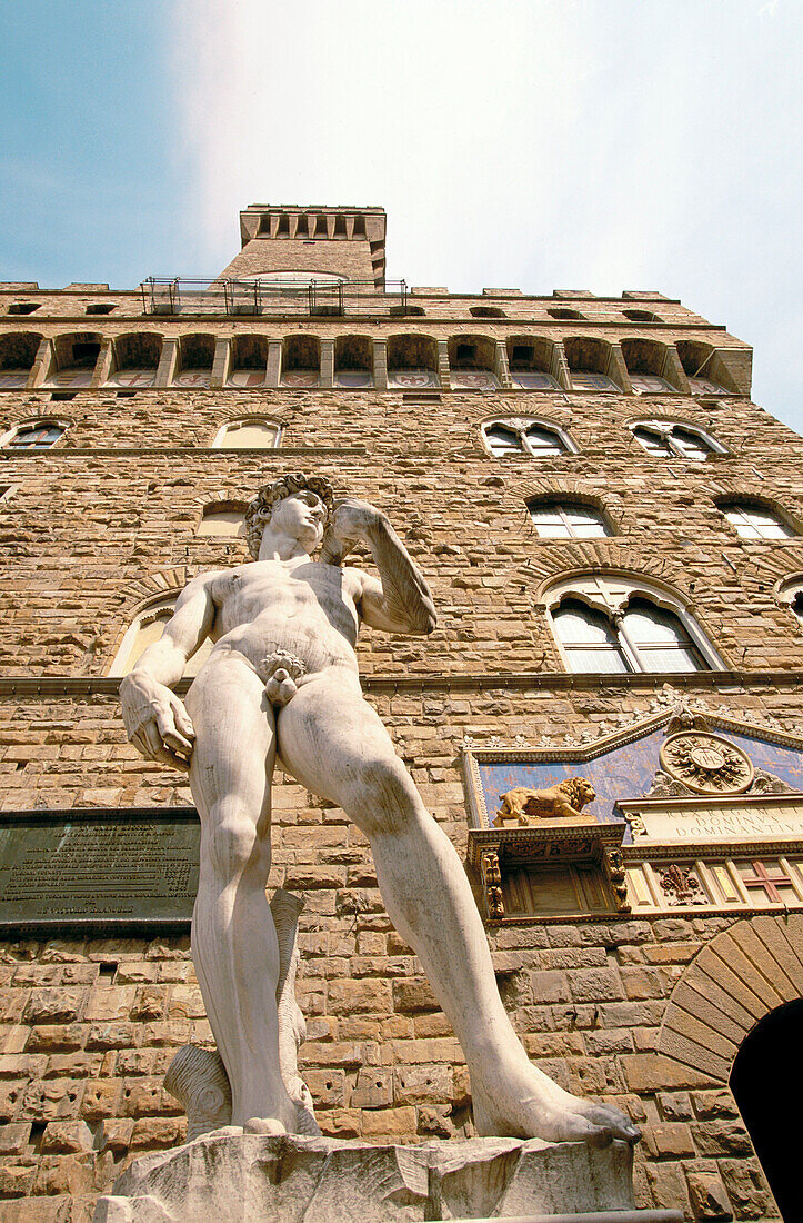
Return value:
<svg viewBox="0 0 803 1223">
<path fill-rule="evenodd" d="M 120 685 L 128 740 L 147 759 L 186 773 L 196 731 L 183 702 L 158 680 L 132 671 Z"/>
</svg>

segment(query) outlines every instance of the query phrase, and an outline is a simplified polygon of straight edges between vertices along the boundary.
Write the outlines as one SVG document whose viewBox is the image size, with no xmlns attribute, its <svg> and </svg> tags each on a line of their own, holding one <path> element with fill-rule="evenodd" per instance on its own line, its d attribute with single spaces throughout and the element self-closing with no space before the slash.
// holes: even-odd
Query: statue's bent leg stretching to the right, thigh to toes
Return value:
<svg viewBox="0 0 803 1223">
<path fill-rule="evenodd" d="M 618 1109 L 571 1096 L 530 1063 L 499 997 L 460 859 L 357 679 L 340 671 L 310 680 L 277 724 L 290 772 L 342 807 L 370 840 L 387 914 L 418 954 L 466 1054 L 479 1131 L 634 1141 L 638 1130 Z"/>
</svg>

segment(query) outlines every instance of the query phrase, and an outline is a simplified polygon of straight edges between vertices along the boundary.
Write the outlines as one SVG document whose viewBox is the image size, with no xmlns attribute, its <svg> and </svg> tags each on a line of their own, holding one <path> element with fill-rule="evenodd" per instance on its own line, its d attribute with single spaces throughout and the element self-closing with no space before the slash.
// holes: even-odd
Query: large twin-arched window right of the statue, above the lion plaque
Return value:
<svg viewBox="0 0 803 1223">
<path fill-rule="evenodd" d="M 611 576 L 572 578 L 550 592 L 552 632 L 567 670 L 660 674 L 721 670 L 680 599 Z"/>
</svg>

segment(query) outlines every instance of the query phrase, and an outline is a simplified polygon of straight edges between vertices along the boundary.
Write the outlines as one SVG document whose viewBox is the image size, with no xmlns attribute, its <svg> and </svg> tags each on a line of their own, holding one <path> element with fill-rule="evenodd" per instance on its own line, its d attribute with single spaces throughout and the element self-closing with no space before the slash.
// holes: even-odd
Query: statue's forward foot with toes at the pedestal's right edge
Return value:
<svg viewBox="0 0 803 1223">
<path fill-rule="evenodd" d="M 638 1142 L 642 1136 L 618 1108 L 570 1095 L 529 1063 L 496 1075 L 488 1091 L 472 1080 L 472 1092 L 474 1124 L 483 1135 L 594 1146 L 614 1139 Z"/>
</svg>

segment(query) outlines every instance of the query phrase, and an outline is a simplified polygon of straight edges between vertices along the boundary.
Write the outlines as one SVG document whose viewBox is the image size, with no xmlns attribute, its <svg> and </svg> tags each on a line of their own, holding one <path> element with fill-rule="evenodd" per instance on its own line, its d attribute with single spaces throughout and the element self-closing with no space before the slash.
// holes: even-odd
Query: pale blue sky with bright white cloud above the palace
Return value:
<svg viewBox="0 0 803 1223">
<path fill-rule="evenodd" d="M 383 204 L 417 285 L 659 289 L 803 429 L 798 0 L 5 0 L 0 279 L 219 272 Z"/>
</svg>

